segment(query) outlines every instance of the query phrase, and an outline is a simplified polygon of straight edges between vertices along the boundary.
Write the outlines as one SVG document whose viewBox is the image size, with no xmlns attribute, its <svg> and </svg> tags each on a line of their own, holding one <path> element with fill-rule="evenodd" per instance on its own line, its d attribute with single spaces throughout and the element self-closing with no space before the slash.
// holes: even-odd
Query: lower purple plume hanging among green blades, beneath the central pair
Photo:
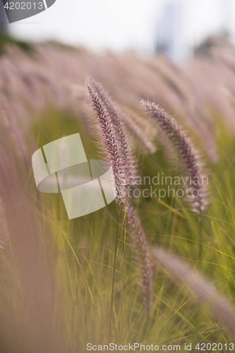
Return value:
<svg viewBox="0 0 235 353">
<path fill-rule="evenodd" d="M 130 228 L 131 239 L 135 237 L 135 249 L 137 251 L 138 263 L 140 263 L 141 284 L 143 287 L 143 302 L 147 319 L 150 317 L 152 309 L 152 260 L 146 235 L 135 210 L 129 204 L 126 205 L 126 216 L 128 227 Z"/>
</svg>

